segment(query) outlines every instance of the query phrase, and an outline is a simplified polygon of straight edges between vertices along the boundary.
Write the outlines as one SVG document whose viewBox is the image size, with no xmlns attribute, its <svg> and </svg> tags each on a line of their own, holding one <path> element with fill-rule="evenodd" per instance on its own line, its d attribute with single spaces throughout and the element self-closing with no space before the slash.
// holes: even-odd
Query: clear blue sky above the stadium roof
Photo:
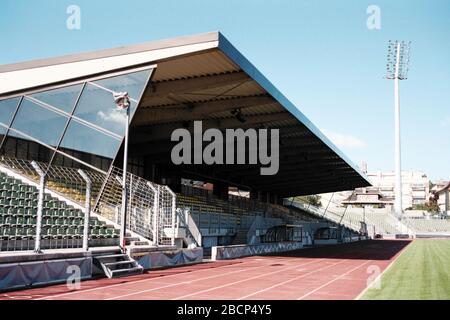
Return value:
<svg viewBox="0 0 450 320">
<path fill-rule="evenodd" d="M 66 27 L 69 5 L 81 9 L 80 30 Z M 369 5 L 379 30 L 366 26 Z M 403 169 L 450 179 L 448 0 L 2 0 L 0 64 L 216 30 L 369 171 L 394 166 L 387 41 L 411 40 Z"/>
</svg>

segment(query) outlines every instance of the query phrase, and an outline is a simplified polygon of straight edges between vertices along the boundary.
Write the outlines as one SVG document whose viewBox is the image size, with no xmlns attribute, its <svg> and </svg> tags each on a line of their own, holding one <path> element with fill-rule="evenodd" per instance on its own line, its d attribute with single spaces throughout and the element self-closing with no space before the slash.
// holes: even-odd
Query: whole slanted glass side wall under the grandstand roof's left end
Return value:
<svg viewBox="0 0 450 320">
<path fill-rule="evenodd" d="M 3 141 L 0 155 L 6 156 L 5 159 L 46 163 L 53 159 L 53 165 L 69 168 L 85 163 L 108 171 L 121 146 L 126 125 L 126 111 L 116 107 L 113 92 L 126 91 L 135 100 L 131 101 L 132 118 L 152 71 L 25 95 L 18 109 L 22 97 L 0 100 L 0 142 Z M 72 112 L 74 116 L 70 117 Z"/>
</svg>

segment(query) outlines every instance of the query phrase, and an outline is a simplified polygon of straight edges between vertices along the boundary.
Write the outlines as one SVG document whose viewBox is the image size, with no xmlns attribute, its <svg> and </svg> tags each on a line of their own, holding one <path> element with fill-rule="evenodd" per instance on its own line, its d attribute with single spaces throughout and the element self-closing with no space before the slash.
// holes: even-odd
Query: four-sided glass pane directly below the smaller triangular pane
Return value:
<svg viewBox="0 0 450 320">
<path fill-rule="evenodd" d="M 45 144 L 56 146 L 68 118 L 24 98 L 11 128 L 17 129 Z M 10 135 L 17 136 L 10 131 Z"/>
</svg>

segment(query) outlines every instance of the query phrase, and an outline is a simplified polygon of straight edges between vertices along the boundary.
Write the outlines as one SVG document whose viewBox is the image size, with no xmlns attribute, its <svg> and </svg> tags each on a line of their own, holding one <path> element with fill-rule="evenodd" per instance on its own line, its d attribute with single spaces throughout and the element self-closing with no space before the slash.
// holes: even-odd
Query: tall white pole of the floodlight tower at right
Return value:
<svg viewBox="0 0 450 320">
<path fill-rule="evenodd" d="M 402 201 L 402 156 L 400 133 L 400 95 L 399 95 L 400 43 L 397 43 L 394 75 L 395 99 L 395 213 L 399 218 L 403 212 Z"/>
</svg>

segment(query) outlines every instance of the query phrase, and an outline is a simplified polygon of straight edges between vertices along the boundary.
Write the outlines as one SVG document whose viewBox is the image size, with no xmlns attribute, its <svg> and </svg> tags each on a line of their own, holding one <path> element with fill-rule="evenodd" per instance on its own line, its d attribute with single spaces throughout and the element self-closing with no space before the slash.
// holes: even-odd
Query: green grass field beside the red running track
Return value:
<svg viewBox="0 0 450 320">
<path fill-rule="evenodd" d="M 450 240 L 415 240 L 362 300 L 449 300 Z"/>
</svg>

